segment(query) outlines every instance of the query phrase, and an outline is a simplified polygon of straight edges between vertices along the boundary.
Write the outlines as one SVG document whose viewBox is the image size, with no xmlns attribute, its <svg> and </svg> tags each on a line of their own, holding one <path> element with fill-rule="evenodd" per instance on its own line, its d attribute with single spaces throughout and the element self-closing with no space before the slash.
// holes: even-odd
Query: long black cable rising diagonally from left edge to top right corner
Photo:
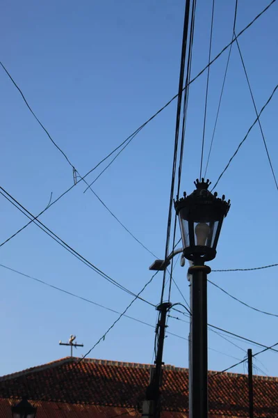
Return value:
<svg viewBox="0 0 278 418">
<path fill-rule="evenodd" d="M 226 49 L 227 48 L 229 48 L 234 42 L 235 42 L 235 40 L 236 39 L 238 39 L 247 29 L 249 29 L 250 28 L 250 26 L 252 26 L 252 24 L 254 24 L 254 22 L 256 22 L 256 20 L 258 20 L 259 19 L 259 17 L 261 17 L 261 15 L 263 15 L 263 13 L 265 13 L 269 8 L 270 8 L 270 6 L 272 6 L 272 4 L 273 3 L 275 3 L 275 1 L 277 1 L 277 0 L 272 0 L 269 4 L 268 4 L 268 6 L 266 6 L 262 11 L 261 11 L 261 13 L 259 13 L 259 15 L 256 15 L 256 17 L 254 17 L 254 19 L 252 20 L 252 22 L 250 22 L 249 24 L 247 24 L 247 26 L 245 26 L 245 28 L 242 30 L 242 31 L 240 31 L 239 33 L 238 33 L 238 35 L 236 36 L 236 38 L 234 38 L 233 40 L 231 40 L 231 42 L 229 42 L 229 44 L 228 45 L 226 45 L 226 47 L 224 47 L 223 49 L 222 49 L 222 51 L 217 55 L 217 56 L 215 56 L 215 58 L 209 63 L 209 65 L 211 65 L 211 64 L 213 64 L 222 54 L 223 54 L 223 52 L 224 51 L 226 51 Z M 6 68 L 4 67 L 4 65 L 3 65 L 3 63 L 1 63 L 0 62 L 0 64 L 1 64 L 1 66 L 3 67 L 3 69 L 6 71 L 6 72 L 8 72 L 7 70 L 6 70 Z M 195 82 L 195 80 L 198 78 L 198 77 L 200 77 L 202 74 L 203 74 L 203 72 L 206 70 L 208 68 L 208 65 L 206 65 L 206 67 L 205 68 L 203 68 L 193 79 L 191 79 L 190 80 L 190 82 L 188 82 L 188 85 L 189 84 L 191 84 L 191 83 L 193 83 L 193 82 Z M 184 87 L 185 88 L 185 87 Z M 73 189 L 73 187 L 75 186 L 75 185 L 77 185 L 79 182 L 81 182 L 84 178 L 86 178 L 90 173 L 92 173 L 92 171 L 94 171 L 95 169 L 97 169 L 97 167 L 99 167 L 99 165 L 100 164 L 102 164 L 104 161 L 106 161 L 109 157 L 111 157 L 111 155 L 113 155 L 113 153 L 115 153 L 115 151 L 116 150 L 118 150 L 121 146 L 123 146 L 124 144 L 126 144 L 126 142 L 127 141 L 129 141 L 129 139 L 131 139 L 131 137 L 134 135 L 134 134 L 136 134 L 136 132 L 138 131 L 138 130 L 140 130 L 140 128 L 142 128 L 142 127 L 145 127 L 150 121 L 152 121 L 158 114 L 160 114 L 161 113 L 161 111 L 163 111 L 167 106 L 169 106 L 170 105 L 170 103 L 172 103 L 176 98 L 177 98 L 177 96 L 178 95 L 174 95 L 174 97 L 171 99 L 171 100 L 169 100 L 169 102 L 167 102 L 163 107 L 161 107 L 161 109 L 159 109 L 157 112 L 156 112 L 156 114 L 154 114 L 151 118 L 149 118 L 145 123 L 143 123 L 136 131 L 134 131 L 133 132 L 133 134 L 131 134 L 128 138 L 126 138 L 126 139 L 124 139 L 124 141 L 122 141 L 122 143 L 119 145 L 119 146 L 117 146 L 116 148 L 114 148 L 112 151 L 111 151 L 111 153 L 109 153 L 108 155 L 106 155 L 106 157 L 104 157 L 95 167 L 93 167 L 92 169 L 90 169 L 90 171 L 88 171 L 88 173 L 86 173 L 85 174 L 85 176 L 83 176 L 83 177 L 81 177 L 81 178 L 79 178 L 79 180 L 77 180 L 76 181 L 76 183 L 74 183 L 74 185 L 72 185 L 71 187 L 69 187 L 67 190 L 65 190 L 65 192 L 63 192 L 60 196 L 58 196 L 58 198 L 55 200 L 55 201 L 53 201 L 47 208 L 45 208 L 44 210 L 42 210 L 42 212 L 40 212 L 38 215 L 37 215 L 37 217 L 35 217 L 34 219 L 37 219 L 38 217 L 40 217 L 40 215 L 42 215 L 42 213 L 44 213 L 45 212 L 45 210 L 47 210 L 47 209 L 49 209 L 52 205 L 54 205 L 54 203 L 56 203 L 58 200 L 60 200 L 63 196 L 65 196 L 65 194 L 67 194 L 68 192 L 70 192 L 70 190 L 71 189 Z M 2 242 L 2 244 L 0 245 L 0 247 L 2 246 L 2 245 L 4 245 L 4 244 L 6 244 L 6 242 L 8 242 L 9 240 L 11 240 L 12 238 L 14 238 L 15 237 L 15 235 L 17 235 L 19 232 L 21 232 L 21 231 L 23 231 L 25 228 L 26 228 L 26 226 L 28 226 L 28 225 L 30 225 L 31 223 L 33 222 L 33 220 L 31 220 L 31 222 L 28 222 L 28 224 L 26 224 L 26 225 L 24 225 L 21 229 L 19 229 L 16 233 L 14 233 L 12 236 L 10 236 L 10 238 L 8 238 L 6 241 L 4 241 L 4 242 Z"/>
</svg>

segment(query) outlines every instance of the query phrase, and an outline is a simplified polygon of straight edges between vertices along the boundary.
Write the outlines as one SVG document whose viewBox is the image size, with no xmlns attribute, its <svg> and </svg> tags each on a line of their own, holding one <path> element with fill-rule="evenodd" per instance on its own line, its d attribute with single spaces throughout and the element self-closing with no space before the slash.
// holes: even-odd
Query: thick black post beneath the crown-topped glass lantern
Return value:
<svg viewBox="0 0 278 418">
<path fill-rule="evenodd" d="M 207 265 L 188 269 L 191 280 L 190 417 L 208 418 Z"/>
</svg>

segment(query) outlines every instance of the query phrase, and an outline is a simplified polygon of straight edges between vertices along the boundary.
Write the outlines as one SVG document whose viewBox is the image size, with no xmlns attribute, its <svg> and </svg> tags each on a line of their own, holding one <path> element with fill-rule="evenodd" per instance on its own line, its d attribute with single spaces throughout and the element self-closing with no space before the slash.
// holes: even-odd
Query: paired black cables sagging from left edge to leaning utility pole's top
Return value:
<svg viewBox="0 0 278 418">
<path fill-rule="evenodd" d="M 1 190 L 2 190 L 2 192 L 1 192 Z M 99 274 L 101 277 L 103 277 L 104 279 L 109 281 L 114 286 L 120 288 L 122 291 L 125 291 L 126 293 L 129 293 L 130 295 L 136 296 L 135 293 L 129 291 L 129 289 L 122 286 L 120 283 L 118 283 L 117 281 L 115 281 L 114 279 L 109 277 L 108 274 L 102 272 L 99 268 L 97 268 L 95 265 L 90 263 L 90 261 L 88 261 L 85 257 L 81 256 L 81 254 L 79 254 L 75 249 L 70 247 L 70 245 L 68 245 L 65 241 L 63 241 L 61 238 L 59 238 L 58 235 L 56 235 L 53 231 L 51 231 L 49 228 L 47 228 L 47 226 L 42 224 L 42 222 L 40 222 L 40 220 L 38 220 L 38 219 L 33 220 L 33 219 L 35 219 L 35 217 L 31 214 L 31 212 L 29 212 L 26 208 L 24 208 L 24 206 L 22 206 L 15 198 L 13 198 L 13 196 L 11 196 L 8 192 L 6 192 L 6 190 L 3 189 L 3 187 L 1 187 L 1 186 L 0 186 L 0 194 L 2 194 L 2 196 L 5 197 L 5 199 L 10 201 L 10 203 L 12 203 L 13 206 L 15 206 L 18 210 L 20 210 L 20 212 L 22 212 L 26 217 L 28 217 L 28 219 L 32 219 L 32 221 L 35 223 L 36 226 L 38 226 L 40 229 L 42 229 L 42 231 L 47 233 L 47 235 L 49 235 L 52 239 L 54 239 L 56 242 L 58 242 L 59 245 L 61 245 L 63 248 L 65 248 L 67 251 L 69 251 L 70 254 L 72 254 L 76 258 L 78 258 L 79 261 L 81 261 L 82 263 L 87 265 L 89 268 L 94 270 L 97 274 Z M 154 305 L 152 305 L 152 306 L 154 306 Z"/>
</svg>

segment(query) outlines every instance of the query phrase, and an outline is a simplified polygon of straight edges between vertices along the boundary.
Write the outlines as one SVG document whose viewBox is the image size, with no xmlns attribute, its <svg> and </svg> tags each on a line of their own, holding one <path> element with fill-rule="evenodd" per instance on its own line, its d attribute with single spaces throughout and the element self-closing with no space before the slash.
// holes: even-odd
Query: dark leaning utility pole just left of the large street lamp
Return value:
<svg viewBox="0 0 278 418">
<path fill-rule="evenodd" d="M 142 416 L 160 418 L 161 416 L 161 405 L 160 405 L 160 387 L 162 385 L 163 377 L 163 346 L 165 339 L 165 329 L 167 311 L 170 309 L 172 304 L 170 302 L 164 302 L 156 308 L 159 311 L 158 323 L 156 325 L 157 335 L 157 348 L 156 348 L 156 360 L 155 368 L 151 369 L 151 376 L 149 386 L 146 390 L 146 401 L 143 401 L 142 405 Z"/>
</svg>

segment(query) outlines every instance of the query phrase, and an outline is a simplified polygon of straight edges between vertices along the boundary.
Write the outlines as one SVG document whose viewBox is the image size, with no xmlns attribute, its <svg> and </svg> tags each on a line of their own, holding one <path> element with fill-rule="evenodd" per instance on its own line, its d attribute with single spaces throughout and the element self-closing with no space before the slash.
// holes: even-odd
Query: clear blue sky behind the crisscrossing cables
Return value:
<svg viewBox="0 0 278 418">
<path fill-rule="evenodd" d="M 239 0 L 236 31 L 243 29 L 268 0 Z M 81 174 L 136 130 L 177 93 L 183 0 L 76 2 L 1 1 L 0 59 L 50 134 Z M 277 84 L 278 5 L 240 36 L 243 58 L 258 109 Z M 215 1 L 212 56 L 231 40 L 234 1 Z M 192 75 L 206 65 L 211 1 L 197 2 Z M 227 62 L 227 52 L 211 66 L 205 161 Z M 190 89 L 181 187 L 193 190 L 199 175 L 206 74 Z M 0 68 L 1 185 L 37 215 L 72 185 L 72 169 L 28 111 Z M 278 93 L 277 93 L 278 94 Z M 277 95 L 261 116 L 275 170 Z M 136 237 L 163 257 L 170 194 L 174 101 L 149 123 L 94 185 L 106 205 Z M 224 88 L 219 122 L 208 166 L 215 181 L 255 119 L 236 45 Z M 93 180 L 99 171 L 89 177 Z M 113 279 L 138 292 L 151 277 L 153 257 L 117 224 L 85 185 L 79 183 L 42 215 L 41 220 Z M 231 199 L 218 256 L 212 268 L 252 268 L 277 263 L 278 193 L 259 127 L 256 125 L 217 190 Z M 3 242 L 26 218 L 1 196 Z M 131 297 L 118 290 L 58 246 L 37 226 L 28 226 L 0 248 L 1 263 L 67 291 L 122 311 Z M 65 357 L 58 346 L 70 334 L 86 351 L 117 316 L 38 282 L 1 268 L 0 374 Z M 256 272 L 211 273 L 211 280 L 260 309 L 278 314 L 277 268 Z M 186 268 L 174 279 L 188 300 Z M 155 304 L 161 294 L 158 274 L 143 296 Z M 172 288 L 172 302 L 181 302 Z M 156 311 L 136 301 L 129 314 L 154 325 Z M 219 327 L 271 345 L 278 341 L 278 318 L 256 313 L 208 285 L 208 320 Z M 169 320 L 170 332 L 188 336 L 188 324 Z M 232 340 L 247 350 L 259 348 Z M 209 332 L 209 368 L 222 370 L 246 353 Z M 122 318 L 90 357 L 152 362 L 154 330 Z M 218 350 L 224 354 L 217 353 Z M 232 356 L 235 357 L 227 357 Z M 278 376 L 277 354 L 269 351 L 256 365 Z M 261 364 L 261 362 L 263 364 Z M 188 366 L 188 343 L 169 335 L 165 363 Z M 244 372 L 243 365 L 234 369 Z"/>
</svg>

